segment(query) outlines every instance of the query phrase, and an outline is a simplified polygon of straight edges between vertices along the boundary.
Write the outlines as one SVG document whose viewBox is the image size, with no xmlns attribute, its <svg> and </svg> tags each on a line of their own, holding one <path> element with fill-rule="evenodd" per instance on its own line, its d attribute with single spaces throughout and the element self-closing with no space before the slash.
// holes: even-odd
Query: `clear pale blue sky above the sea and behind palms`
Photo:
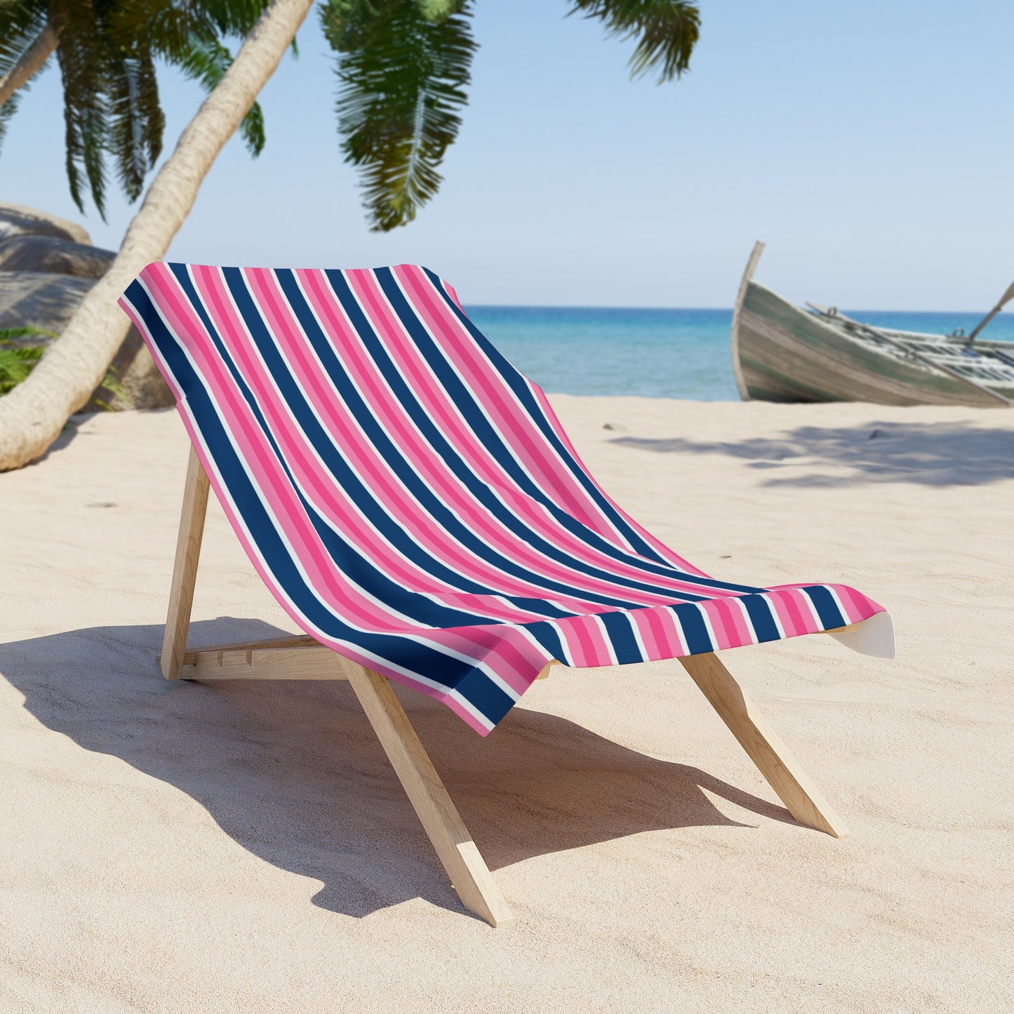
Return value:
<svg viewBox="0 0 1014 1014">
<path fill-rule="evenodd" d="M 478 0 L 441 194 L 387 235 L 341 160 L 311 13 L 262 93 L 264 155 L 229 143 L 169 257 L 419 262 L 466 303 L 729 306 L 756 238 L 758 279 L 799 301 L 985 309 L 1014 279 L 1010 0 L 701 6 L 691 73 L 659 87 L 566 0 Z M 201 95 L 161 81 L 171 150 Z M 0 200 L 80 218 L 62 132 L 54 66 L 11 125 Z M 114 197 L 84 223 L 115 247 L 130 214 Z"/>
</svg>

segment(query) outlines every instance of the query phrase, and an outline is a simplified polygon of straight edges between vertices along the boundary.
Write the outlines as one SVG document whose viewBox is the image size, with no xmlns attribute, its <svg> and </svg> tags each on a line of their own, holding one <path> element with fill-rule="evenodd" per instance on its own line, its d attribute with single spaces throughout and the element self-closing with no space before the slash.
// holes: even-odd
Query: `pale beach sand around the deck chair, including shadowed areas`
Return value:
<svg viewBox="0 0 1014 1014">
<path fill-rule="evenodd" d="M 893 662 L 726 656 L 853 837 L 792 821 L 673 662 L 555 670 L 487 740 L 402 693 L 489 928 L 346 684 L 162 680 L 186 436 L 92 417 L 0 476 L 0 1010 L 1014 1008 L 1014 412 L 554 401 L 697 565 L 891 610 Z M 217 504 L 195 618 L 292 629 Z"/>
</svg>

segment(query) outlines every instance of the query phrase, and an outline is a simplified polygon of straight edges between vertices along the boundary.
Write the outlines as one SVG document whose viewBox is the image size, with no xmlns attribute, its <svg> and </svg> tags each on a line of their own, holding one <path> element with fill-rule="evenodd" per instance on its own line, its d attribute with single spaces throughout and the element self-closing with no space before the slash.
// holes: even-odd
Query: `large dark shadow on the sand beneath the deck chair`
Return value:
<svg viewBox="0 0 1014 1014">
<path fill-rule="evenodd" d="M 231 618 L 191 629 L 193 644 L 282 633 Z M 3 644 L 0 674 L 48 728 L 174 786 L 242 848 L 322 881 L 314 904 L 361 917 L 422 896 L 464 911 L 348 683 L 168 682 L 154 663 L 161 635 L 97 627 Z M 484 740 L 422 695 L 399 697 L 494 870 L 641 831 L 750 826 L 702 789 L 794 822 L 563 718 L 515 709 Z"/>
</svg>

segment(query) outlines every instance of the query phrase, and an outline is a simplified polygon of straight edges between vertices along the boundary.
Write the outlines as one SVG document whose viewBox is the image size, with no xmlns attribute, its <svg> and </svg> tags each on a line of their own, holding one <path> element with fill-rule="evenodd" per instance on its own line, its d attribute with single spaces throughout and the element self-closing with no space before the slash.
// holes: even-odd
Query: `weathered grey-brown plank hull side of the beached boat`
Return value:
<svg viewBox="0 0 1014 1014">
<path fill-rule="evenodd" d="M 744 397 L 991 409 L 1003 404 L 959 379 L 855 341 L 756 282 L 745 282 L 737 310 L 732 346 Z"/>
</svg>

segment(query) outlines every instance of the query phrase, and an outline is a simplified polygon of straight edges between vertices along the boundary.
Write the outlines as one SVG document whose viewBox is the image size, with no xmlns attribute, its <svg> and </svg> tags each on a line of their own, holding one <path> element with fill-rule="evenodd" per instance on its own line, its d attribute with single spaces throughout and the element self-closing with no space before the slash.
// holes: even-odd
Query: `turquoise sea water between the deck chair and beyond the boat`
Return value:
<svg viewBox="0 0 1014 1014">
<path fill-rule="evenodd" d="M 468 306 L 480 331 L 545 390 L 639 394 L 699 402 L 738 401 L 729 333 L 732 310 L 610 309 L 580 306 Z M 882 328 L 949 335 L 982 313 L 845 310 Z M 1014 342 L 1014 313 L 984 338 Z"/>
</svg>

